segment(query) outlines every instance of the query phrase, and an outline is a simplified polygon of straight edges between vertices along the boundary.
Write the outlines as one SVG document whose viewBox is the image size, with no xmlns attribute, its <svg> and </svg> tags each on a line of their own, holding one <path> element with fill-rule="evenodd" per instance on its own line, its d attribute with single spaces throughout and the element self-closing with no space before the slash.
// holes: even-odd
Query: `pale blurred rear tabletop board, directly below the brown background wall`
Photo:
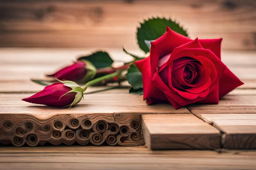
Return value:
<svg viewBox="0 0 256 170">
<path fill-rule="evenodd" d="M 43 86 L 30 79 L 44 79 L 67 66 L 81 55 L 87 55 L 97 49 L 0 49 L 0 92 L 29 93 L 38 92 Z M 132 58 L 122 49 L 106 49 L 113 60 L 129 62 Z M 139 51 L 134 53 L 141 54 Z M 222 61 L 245 84 L 239 88 L 256 88 L 256 52 L 255 51 L 223 51 Z M 116 62 L 115 64 L 118 64 Z"/>
</svg>

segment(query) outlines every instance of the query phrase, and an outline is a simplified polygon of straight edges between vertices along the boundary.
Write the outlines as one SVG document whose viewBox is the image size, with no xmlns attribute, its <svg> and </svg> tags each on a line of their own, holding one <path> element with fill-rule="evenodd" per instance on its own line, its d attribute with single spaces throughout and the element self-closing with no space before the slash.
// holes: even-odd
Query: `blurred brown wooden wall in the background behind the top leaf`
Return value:
<svg viewBox="0 0 256 170">
<path fill-rule="evenodd" d="M 138 48 L 139 22 L 180 22 L 191 38 L 256 50 L 256 0 L 0 0 L 1 47 Z"/>
</svg>

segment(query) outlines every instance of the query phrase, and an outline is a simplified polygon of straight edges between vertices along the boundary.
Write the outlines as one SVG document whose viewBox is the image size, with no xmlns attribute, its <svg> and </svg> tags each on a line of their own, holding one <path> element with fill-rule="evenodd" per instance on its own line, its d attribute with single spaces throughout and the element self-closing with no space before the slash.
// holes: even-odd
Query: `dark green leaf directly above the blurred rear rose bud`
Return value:
<svg viewBox="0 0 256 170">
<path fill-rule="evenodd" d="M 113 63 L 112 58 L 108 55 L 108 53 L 103 51 L 97 51 L 88 56 L 80 57 L 78 60 L 88 60 L 90 61 L 96 68 L 104 68 L 111 66 Z"/>
</svg>

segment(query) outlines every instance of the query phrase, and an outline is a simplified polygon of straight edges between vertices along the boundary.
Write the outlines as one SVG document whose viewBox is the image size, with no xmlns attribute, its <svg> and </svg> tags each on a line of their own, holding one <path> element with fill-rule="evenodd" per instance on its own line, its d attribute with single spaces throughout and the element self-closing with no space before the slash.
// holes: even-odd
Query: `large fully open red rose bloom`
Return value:
<svg viewBox="0 0 256 170">
<path fill-rule="evenodd" d="M 175 109 L 195 102 L 218 104 L 243 84 L 220 60 L 222 39 L 191 40 L 169 27 L 151 42 L 150 56 L 135 62 L 147 104 L 170 102 Z"/>
</svg>

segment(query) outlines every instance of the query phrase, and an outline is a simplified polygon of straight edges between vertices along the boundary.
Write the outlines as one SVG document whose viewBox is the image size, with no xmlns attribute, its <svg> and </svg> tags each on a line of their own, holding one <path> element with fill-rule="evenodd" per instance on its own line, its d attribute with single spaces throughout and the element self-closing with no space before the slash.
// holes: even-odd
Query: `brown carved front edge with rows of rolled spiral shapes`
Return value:
<svg viewBox="0 0 256 170">
<path fill-rule="evenodd" d="M 127 122 L 138 122 L 139 127 L 130 126 Z M 115 125 L 117 132 L 112 133 L 109 124 Z M 26 130 L 21 130 L 21 126 L 25 126 Z M 130 132 L 132 137 L 128 137 Z M 86 145 L 90 142 L 95 146 L 139 146 L 144 144 L 141 115 L 63 114 L 38 119 L 28 114 L 0 114 L 0 144 L 23 146 L 26 143 L 28 146 L 37 146 L 46 142 L 53 145 L 72 145 L 75 142 Z"/>
</svg>

